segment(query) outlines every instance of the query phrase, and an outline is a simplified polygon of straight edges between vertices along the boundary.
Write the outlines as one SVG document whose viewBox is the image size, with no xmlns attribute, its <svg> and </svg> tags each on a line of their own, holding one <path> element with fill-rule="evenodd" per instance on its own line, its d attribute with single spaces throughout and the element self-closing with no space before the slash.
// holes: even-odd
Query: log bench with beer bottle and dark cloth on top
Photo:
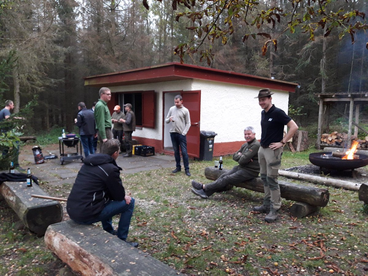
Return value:
<svg viewBox="0 0 368 276">
<path fill-rule="evenodd" d="M 27 187 L 26 182 L 4 182 L 0 184 L 0 199 L 7 204 L 32 232 L 43 235 L 47 226 L 61 222 L 63 206 L 50 199 L 33 198 L 31 194 L 48 196 L 38 185 Z"/>
</svg>

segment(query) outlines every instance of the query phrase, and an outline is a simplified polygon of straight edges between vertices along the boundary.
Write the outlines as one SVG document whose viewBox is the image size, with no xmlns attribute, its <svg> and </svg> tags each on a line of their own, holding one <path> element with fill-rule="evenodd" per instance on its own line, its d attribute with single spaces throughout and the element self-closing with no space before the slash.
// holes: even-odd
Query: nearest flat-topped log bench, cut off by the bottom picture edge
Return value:
<svg viewBox="0 0 368 276">
<path fill-rule="evenodd" d="M 95 225 L 72 220 L 50 225 L 45 243 L 81 275 L 179 275 L 177 270 Z"/>
</svg>

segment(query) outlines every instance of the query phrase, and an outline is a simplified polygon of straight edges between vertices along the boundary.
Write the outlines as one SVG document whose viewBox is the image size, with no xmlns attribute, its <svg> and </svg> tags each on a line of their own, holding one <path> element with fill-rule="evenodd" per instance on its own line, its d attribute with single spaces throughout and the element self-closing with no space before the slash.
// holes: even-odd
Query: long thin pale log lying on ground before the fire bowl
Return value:
<svg viewBox="0 0 368 276">
<path fill-rule="evenodd" d="M 327 178 L 327 177 L 321 177 L 321 176 L 311 176 L 309 174 L 305 173 L 295 173 L 293 171 L 286 171 L 286 170 L 279 170 L 279 175 L 292 178 L 292 179 L 298 179 L 298 180 L 305 180 L 309 181 L 311 183 L 315 184 L 322 184 L 326 186 L 331 187 L 337 187 L 337 188 L 344 188 L 346 190 L 351 191 L 358 191 L 360 187 L 360 183 L 354 183 L 334 178 Z"/>
</svg>

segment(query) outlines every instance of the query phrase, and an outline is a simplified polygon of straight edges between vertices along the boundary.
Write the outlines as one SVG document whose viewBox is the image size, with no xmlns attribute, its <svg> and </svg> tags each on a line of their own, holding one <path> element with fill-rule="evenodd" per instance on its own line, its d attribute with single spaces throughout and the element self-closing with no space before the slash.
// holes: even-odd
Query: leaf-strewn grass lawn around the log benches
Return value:
<svg viewBox="0 0 368 276">
<path fill-rule="evenodd" d="M 284 152 L 282 168 L 309 164 L 315 151 Z M 224 158 L 225 168 L 234 165 Z M 283 199 L 280 219 L 266 223 L 265 214 L 252 212 L 262 203 L 261 193 L 233 188 L 209 199 L 192 194 L 191 179 L 210 182 L 204 177 L 207 166 L 213 162 L 192 161 L 191 177 L 171 169 L 123 175 L 136 200 L 128 239 L 187 275 L 368 275 L 368 215 L 357 192 L 280 177 L 328 189 L 329 204 L 295 218 L 289 212 L 294 202 Z M 57 197 L 71 185 L 41 187 Z M 17 217 L 4 202 L 0 220 L 0 275 L 56 275 L 63 267 L 42 237 L 17 230 Z"/>
</svg>

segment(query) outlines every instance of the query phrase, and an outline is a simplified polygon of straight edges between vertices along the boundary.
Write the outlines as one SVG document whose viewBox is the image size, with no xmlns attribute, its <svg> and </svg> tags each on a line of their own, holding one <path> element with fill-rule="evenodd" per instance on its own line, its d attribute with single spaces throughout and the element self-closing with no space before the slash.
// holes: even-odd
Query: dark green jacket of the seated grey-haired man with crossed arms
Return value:
<svg viewBox="0 0 368 276">
<path fill-rule="evenodd" d="M 255 177 L 259 174 L 258 149 L 259 142 L 254 138 L 249 143 L 244 143 L 241 148 L 233 154 L 233 160 L 239 163 L 241 169 L 247 170 Z M 238 153 L 241 153 L 238 154 Z"/>
</svg>

